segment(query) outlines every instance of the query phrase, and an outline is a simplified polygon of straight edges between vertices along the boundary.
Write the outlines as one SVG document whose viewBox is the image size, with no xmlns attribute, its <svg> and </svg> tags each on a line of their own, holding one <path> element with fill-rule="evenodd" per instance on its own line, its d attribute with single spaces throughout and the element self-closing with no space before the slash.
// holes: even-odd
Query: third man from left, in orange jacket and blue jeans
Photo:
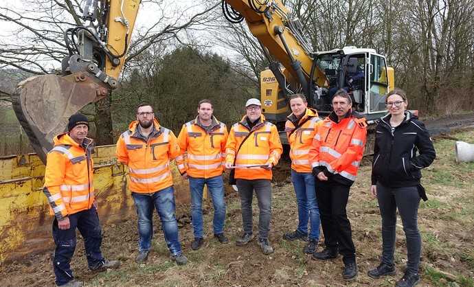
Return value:
<svg viewBox="0 0 474 287">
<path fill-rule="evenodd" d="M 178 136 L 181 154 L 176 158 L 183 179 L 188 179 L 191 192 L 192 250 L 201 248 L 203 232 L 203 189 L 212 196 L 214 205 L 214 237 L 221 243 L 229 240 L 224 236 L 225 200 L 222 179 L 227 127 L 212 115 L 214 108 L 210 100 L 198 104 L 198 116 L 183 124 Z"/>
</svg>

